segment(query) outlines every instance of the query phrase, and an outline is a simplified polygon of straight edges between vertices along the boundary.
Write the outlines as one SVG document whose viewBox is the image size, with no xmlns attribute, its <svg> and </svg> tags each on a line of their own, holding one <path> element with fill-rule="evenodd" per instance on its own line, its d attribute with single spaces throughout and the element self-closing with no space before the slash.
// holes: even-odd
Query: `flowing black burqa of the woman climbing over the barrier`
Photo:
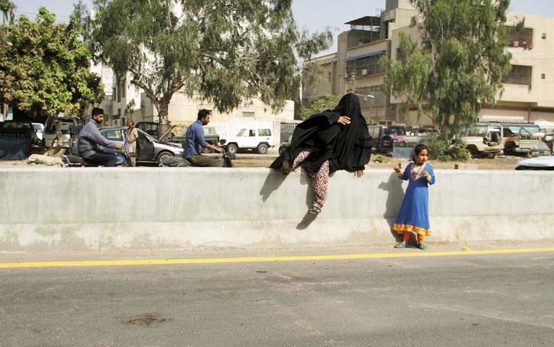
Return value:
<svg viewBox="0 0 554 347">
<path fill-rule="evenodd" d="M 350 124 L 337 124 L 340 116 L 348 116 Z M 318 171 L 326 160 L 331 171 L 364 170 L 371 156 L 370 136 L 355 94 L 346 94 L 334 109 L 314 114 L 298 124 L 289 150 L 271 168 L 280 168 L 285 160 L 292 165 L 294 158 L 306 149 L 312 150 L 301 165 L 307 172 Z"/>
</svg>

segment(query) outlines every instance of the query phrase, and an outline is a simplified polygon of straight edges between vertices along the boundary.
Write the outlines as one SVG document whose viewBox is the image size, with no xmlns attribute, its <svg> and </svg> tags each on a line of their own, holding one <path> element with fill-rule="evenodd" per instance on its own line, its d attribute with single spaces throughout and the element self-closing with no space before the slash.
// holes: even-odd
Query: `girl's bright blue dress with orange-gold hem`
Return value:
<svg viewBox="0 0 554 347">
<path fill-rule="evenodd" d="M 402 200 L 400 212 L 393 225 L 393 231 L 404 233 L 411 231 L 420 235 L 429 236 L 429 184 L 435 183 L 435 173 L 429 163 L 424 163 L 417 172 L 413 172 L 413 162 L 406 166 L 400 179 L 409 181 L 406 195 Z M 429 172 L 431 180 L 428 182 L 423 172 Z"/>
</svg>

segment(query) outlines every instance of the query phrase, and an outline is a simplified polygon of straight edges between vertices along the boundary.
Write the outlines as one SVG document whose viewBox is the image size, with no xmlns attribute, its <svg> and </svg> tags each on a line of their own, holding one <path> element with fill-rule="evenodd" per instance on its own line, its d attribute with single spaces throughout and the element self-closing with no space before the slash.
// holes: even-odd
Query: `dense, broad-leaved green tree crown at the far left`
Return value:
<svg viewBox="0 0 554 347">
<path fill-rule="evenodd" d="M 37 21 L 21 16 L 2 30 L 1 102 L 23 111 L 77 115 L 85 104 L 102 99 L 100 78 L 89 71 L 90 52 L 73 19 L 55 24 L 55 16 L 40 8 Z"/>
</svg>

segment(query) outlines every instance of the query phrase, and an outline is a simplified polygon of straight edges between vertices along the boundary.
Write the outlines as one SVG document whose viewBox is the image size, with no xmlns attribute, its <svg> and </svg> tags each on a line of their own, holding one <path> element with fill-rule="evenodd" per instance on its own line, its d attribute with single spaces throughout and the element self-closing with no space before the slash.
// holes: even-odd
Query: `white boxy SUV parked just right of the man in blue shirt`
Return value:
<svg viewBox="0 0 554 347">
<path fill-rule="evenodd" d="M 271 129 L 241 129 L 236 136 L 225 138 L 225 150 L 229 154 L 235 154 L 240 150 L 256 150 L 260 154 L 266 154 L 269 148 L 274 147 L 274 138 Z"/>
</svg>

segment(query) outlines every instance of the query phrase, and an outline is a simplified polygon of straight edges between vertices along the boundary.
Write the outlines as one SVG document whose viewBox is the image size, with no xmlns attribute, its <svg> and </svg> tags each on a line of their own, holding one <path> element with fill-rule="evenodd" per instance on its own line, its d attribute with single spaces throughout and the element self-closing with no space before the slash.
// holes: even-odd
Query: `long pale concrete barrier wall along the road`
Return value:
<svg viewBox="0 0 554 347">
<path fill-rule="evenodd" d="M 429 242 L 554 238 L 552 172 L 436 170 Z M 0 251 L 393 244 L 407 182 L 336 172 L 307 215 L 299 172 L 265 168 L 2 168 Z"/>
</svg>

